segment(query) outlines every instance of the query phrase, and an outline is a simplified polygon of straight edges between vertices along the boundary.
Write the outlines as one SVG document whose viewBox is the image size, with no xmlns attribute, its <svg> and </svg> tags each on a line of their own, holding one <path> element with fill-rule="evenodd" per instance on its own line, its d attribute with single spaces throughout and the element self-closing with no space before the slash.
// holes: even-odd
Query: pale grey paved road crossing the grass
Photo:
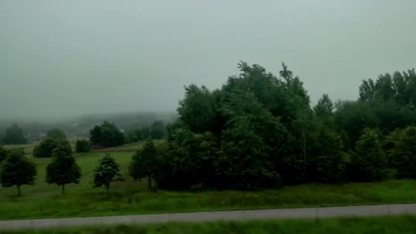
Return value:
<svg viewBox="0 0 416 234">
<path fill-rule="evenodd" d="M 137 216 L 103 216 L 86 218 L 12 220 L 0 221 L 0 230 L 51 229 L 64 226 L 104 224 L 151 224 L 163 222 L 207 222 L 216 220 L 272 220 L 298 218 L 333 218 L 347 216 L 387 216 L 404 213 L 416 214 L 416 203 L 398 205 L 363 205 L 350 207 L 316 207 L 299 209 L 261 209 L 246 211 L 163 213 Z"/>
</svg>

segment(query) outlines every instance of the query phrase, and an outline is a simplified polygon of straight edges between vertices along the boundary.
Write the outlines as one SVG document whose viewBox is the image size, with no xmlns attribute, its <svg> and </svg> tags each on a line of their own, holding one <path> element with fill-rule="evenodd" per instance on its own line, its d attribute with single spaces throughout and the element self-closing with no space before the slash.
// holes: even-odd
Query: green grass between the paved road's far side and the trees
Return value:
<svg viewBox="0 0 416 234">
<path fill-rule="evenodd" d="M 415 180 L 307 184 L 260 192 L 150 192 L 145 181 L 136 182 L 127 177 L 133 152 L 111 154 L 127 179 L 114 183 L 109 197 L 104 188 L 92 188 L 91 183 L 92 169 L 104 153 L 77 156 L 82 171 L 81 181 L 77 185 L 67 185 L 64 196 L 60 187 L 44 182 L 45 167 L 50 159 L 34 159 L 38 165 L 36 184 L 22 186 L 22 197 L 16 196 L 16 187 L 0 187 L 0 220 L 416 202 Z"/>
</svg>

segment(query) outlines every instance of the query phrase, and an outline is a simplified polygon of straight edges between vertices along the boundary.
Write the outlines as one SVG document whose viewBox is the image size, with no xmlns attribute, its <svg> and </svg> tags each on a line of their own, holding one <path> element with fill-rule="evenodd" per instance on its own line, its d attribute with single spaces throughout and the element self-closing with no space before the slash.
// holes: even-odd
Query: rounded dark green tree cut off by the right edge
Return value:
<svg viewBox="0 0 416 234">
<path fill-rule="evenodd" d="M 399 178 L 416 179 L 416 127 L 406 127 L 396 134 L 395 144 L 389 151 L 391 164 Z"/>
</svg>

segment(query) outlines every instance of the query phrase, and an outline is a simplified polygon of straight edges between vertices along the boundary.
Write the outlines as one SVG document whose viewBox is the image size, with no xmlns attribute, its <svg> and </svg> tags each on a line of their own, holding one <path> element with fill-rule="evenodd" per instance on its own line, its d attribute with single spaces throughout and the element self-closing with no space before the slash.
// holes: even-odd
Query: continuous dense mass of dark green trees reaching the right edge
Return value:
<svg viewBox="0 0 416 234">
<path fill-rule="evenodd" d="M 166 144 L 146 144 L 133 157 L 134 178 L 168 189 L 244 190 L 416 178 L 414 70 L 363 81 L 358 101 L 334 104 L 325 94 L 311 107 L 285 64 L 280 77 L 245 62 L 239 69 L 218 90 L 185 87 Z"/>
</svg>

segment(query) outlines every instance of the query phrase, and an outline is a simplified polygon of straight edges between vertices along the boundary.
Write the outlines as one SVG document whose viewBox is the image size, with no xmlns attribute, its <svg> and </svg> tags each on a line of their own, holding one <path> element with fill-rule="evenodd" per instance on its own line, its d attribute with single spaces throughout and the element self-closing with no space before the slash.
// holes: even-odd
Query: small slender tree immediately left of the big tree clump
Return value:
<svg viewBox="0 0 416 234">
<path fill-rule="evenodd" d="M 157 170 L 157 153 L 152 140 L 146 140 L 144 146 L 131 158 L 129 174 L 133 179 L 147 178 L 149 189 L 152 188 L 152 179 Z"/>
</svg>

